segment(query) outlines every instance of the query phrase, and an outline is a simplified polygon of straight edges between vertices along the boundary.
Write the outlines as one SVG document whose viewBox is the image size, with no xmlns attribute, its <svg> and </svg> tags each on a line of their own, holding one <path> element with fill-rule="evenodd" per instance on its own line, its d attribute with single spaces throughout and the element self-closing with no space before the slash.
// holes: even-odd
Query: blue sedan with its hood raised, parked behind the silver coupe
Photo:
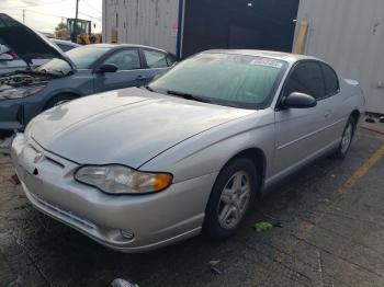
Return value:
<svg viewBox="0 0 384 287">
<path fill-rule="evenodd" d="M 109 90 L 144 85 L 169 69 L 176 56 L 139 45 L 97 44 L 64 54 L 57 46 L 7 14 L 0 14 L 0 43 L 27 65 L 45 65 L 0 77 L 0 135 L 23 130 L 41 112 L 60 103 Z"/>
</svg>

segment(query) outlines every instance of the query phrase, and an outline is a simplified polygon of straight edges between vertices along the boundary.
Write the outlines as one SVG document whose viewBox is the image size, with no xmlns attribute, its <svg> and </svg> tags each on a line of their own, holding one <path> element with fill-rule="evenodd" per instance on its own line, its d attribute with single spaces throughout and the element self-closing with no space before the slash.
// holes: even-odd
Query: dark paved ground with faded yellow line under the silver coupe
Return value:
<svg viewBox="0 0 384 287">
<path fill-rule="evenodd" d="M 36 211 L 0 156 L 0 286 L 384 286 L 384 136 L 360 130 L 263 198 L 239 232 L 142 254 L 103 248 Z M 148 219 L 150 220 L 150 219 Z M 255 223 L 280 221 L 264 232 Z M 215 266 L 212 268 L 212 261 Z"/>
</svg>

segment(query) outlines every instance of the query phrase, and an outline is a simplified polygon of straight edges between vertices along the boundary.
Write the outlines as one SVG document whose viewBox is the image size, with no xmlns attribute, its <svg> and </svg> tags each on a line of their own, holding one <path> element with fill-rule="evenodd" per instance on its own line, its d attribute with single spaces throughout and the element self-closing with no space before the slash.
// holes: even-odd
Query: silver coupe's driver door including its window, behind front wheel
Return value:
<svg viewBox="0 0 384 287">
<path fill-rule="evenodd" d="M 332 110 L 326 99 L 324 77 L 318 61 L 301 61 L 291 71 L 282 96 L 292 92 L 306 93 L 317 100 L 310 108 L 282 108 L 275 113 L 274 174 L 284 176 L 313 156 L 324 150 L 329 141 L 327 126 Z"/>
</svg>

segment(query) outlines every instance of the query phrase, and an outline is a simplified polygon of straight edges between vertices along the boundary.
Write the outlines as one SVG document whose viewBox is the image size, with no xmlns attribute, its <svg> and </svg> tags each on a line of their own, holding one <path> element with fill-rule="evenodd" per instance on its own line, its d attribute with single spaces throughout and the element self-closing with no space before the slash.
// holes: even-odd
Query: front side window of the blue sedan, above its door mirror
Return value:
<svg viewBox="0 0 384 287">
<path fill-rule="evenodd" d="M 142 68 L 138 49 L 124 49 L 116 51 L 103 64 L 116 65 L 117 70 L 135 70 Z"/>
</svg>

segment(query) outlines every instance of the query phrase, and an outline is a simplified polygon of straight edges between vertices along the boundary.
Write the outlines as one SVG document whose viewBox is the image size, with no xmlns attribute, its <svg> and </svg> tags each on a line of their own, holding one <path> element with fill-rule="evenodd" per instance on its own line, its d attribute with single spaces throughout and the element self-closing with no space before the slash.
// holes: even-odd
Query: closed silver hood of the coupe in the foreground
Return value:
<svg viewBox="0 0 384 287">
<path fill-rule="evenodd" d="M 131 88 L 52 108 L 25 134 L 77 163 L 138 169 L 181 141 L 250 113 Z"/>
</svg>

